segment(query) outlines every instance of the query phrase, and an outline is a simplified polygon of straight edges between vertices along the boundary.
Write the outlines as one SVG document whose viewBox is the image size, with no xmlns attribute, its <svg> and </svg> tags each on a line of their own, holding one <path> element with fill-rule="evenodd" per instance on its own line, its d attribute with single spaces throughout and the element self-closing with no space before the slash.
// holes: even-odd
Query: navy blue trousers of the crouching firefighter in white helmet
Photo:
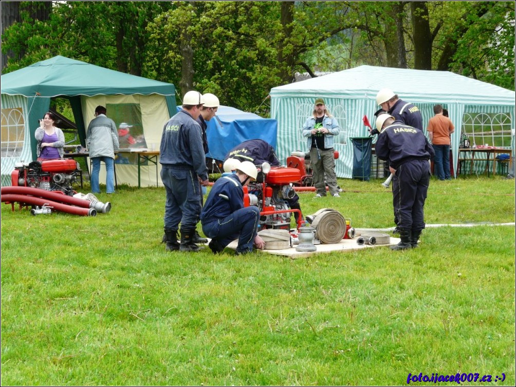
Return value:
<svg viewBox="0 0 516 387">
<path fill-rule="evenodd" d="M 202 232 L 221 250 L 235 239 L 238 239 L 237 253 L 250 253 L 253 250 L 260 222 L 258 207 L 244 207 L 231 215 L 214 222 L 202 225 Z"/>
</svg>

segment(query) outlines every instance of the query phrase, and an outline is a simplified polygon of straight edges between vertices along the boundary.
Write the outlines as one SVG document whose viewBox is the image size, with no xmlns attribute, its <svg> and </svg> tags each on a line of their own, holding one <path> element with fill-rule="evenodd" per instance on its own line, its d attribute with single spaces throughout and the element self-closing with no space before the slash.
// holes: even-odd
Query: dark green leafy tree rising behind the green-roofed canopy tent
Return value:
<svg viewBox="0 0 516 387">
<path fill-rule="evenodd" d="M 26 13 L 2 36 L 3 52 L 25 53 L 20 60 L 12 58 L 6 72 L 63 55 L 145 76 L 147 24 L 171 6 L 171 2 L 55 2 L 44 22 Z"/>
</svg>

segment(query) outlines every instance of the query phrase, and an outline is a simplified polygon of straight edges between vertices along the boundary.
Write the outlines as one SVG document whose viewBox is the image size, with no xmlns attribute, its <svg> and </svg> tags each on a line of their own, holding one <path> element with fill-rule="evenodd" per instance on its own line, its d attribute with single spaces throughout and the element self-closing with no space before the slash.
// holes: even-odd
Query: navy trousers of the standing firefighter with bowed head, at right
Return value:
<svg viewBox="0 0 516 387">
<path fill-rule="evenodd" d="M 412 160 L 401 164 L 392 183 L 394 217 L 398 219 L 398 227 L 423 230 L 423 207 L 430 183 L 430 163 L 428 160 Z"/>
</svg>

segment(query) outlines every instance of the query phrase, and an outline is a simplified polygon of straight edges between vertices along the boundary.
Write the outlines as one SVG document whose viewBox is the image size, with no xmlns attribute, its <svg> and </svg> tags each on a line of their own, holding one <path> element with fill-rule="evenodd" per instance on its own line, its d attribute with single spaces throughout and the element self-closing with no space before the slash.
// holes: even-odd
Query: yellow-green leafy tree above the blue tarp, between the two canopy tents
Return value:
<svg viewBox="0 0 516 387">
<path fill-rule="evenodd" d="M 254 111 L 280 82 L 278 52 L 271 45 L 279 11 L 274 2 L 182 2 L 149 25 L 156 73 L 168 74 L 181 94 L 191 84 L 224 105 Z M 192 81 L 180 83 L 187 45 Z"/>
</svg>

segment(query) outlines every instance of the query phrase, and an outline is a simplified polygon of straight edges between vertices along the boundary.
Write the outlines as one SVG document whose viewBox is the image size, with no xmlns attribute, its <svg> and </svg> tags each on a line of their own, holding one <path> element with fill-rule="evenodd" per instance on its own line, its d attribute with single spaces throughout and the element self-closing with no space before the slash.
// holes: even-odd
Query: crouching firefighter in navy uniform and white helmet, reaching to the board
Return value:
<svg viewBox="0 0 516 387">
<path fill-rule="evenodd" d="M 208 246 L 220 253 L 238 239 L 237 254 L 251 253 L 253 246 L 264 249 L 265 242 L 258 232 L 260 210 L 256 206 L 244 207 L 244 190 L 255 180 L 258 171 L 250 161 L 240 163 L 235 174 L 219 178 L 213 185 L 201 212 L 202 231 L 212 238 Z"/>
</svg>

